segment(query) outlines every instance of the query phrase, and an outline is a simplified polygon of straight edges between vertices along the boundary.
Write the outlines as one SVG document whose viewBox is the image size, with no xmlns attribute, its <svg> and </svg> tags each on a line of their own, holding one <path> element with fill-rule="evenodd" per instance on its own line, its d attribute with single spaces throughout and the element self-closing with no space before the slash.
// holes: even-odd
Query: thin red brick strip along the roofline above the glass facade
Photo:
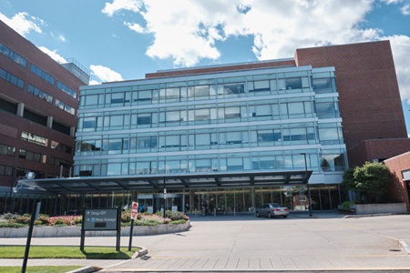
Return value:
<svg viewBox="0 0 410 273">
<path fill-rule="evenodd" d="M 148 73 L 145 75 L 146 78 L 157 78 L 166 76 L 185 76 L 185 75 L 196 75 L 196 74 L 207 74 L 207 73 L 217 73 L 217 72 L 229 72 L 238 70 L 248 70 L 256 68 L 268 68 L 268 67 L 280 67 L 280 66 L 295 66 L 294 60 L 282 60 L 282 61 L 272 61 L 272 62 L 261 62 L 254 64 L 241 64 L 232 66 L 211 66 L 211 67 L 195 67 L 180 70 L 169 70 L 157 73 Z"/>
</svg>

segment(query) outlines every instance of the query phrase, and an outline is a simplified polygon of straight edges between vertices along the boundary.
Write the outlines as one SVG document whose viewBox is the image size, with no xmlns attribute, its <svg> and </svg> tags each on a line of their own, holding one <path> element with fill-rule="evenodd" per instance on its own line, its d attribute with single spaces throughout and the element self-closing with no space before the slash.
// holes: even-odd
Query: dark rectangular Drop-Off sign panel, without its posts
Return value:
<svg viewBox="0 0 410 273">
<path fill-rule="evenodd" d="M 117 208 L 90 208 L 84 212 L 84 230 L 117 230 Z"/>
</svg>

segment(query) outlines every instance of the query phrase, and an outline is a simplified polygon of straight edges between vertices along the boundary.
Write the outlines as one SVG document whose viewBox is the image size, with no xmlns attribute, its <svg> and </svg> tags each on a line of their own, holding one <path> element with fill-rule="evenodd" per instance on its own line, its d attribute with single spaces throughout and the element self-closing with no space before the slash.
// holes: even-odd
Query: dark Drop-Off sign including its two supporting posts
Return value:
<svg viewBox="0 0 410 273">
<path fill-rule="evenodd" d="M 91 208 L 83 212 L 80 249 L 84 250 L 87 230 L 117 230 L 116 250 L 119 251 L 121 238 L 121 210 L 117 208 Z"/>
</svg>

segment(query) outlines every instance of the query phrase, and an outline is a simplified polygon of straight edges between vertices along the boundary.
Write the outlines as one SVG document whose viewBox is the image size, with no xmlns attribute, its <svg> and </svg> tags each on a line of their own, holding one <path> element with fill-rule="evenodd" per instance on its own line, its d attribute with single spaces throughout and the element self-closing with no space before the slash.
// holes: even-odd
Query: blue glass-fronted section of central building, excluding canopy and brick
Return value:
<svg viewBox="0 0 410 273">
<path fill-rule="evenodd" d="M 313 210 L 336 209 L 347 160 L 334 77 L 334 67 L 284 66 L 82 86 L 74 177 L 165 181 L 309 169 Z M 165 197 L 151 183 L 111 197 L 88 193 L 83 205 L 104 207 L 118 197 L 154 212 L 253 213 L 266 202 L 307 209 L 305 184 L 250 182 L 167 182 Z"/>
</svg>

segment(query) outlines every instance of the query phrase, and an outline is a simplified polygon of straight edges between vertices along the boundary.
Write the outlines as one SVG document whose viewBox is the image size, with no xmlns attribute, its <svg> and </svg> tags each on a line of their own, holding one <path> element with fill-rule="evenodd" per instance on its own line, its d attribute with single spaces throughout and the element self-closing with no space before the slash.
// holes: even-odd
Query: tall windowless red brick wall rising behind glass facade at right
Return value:
<svg viewBox="0 0 410 273">
<path fill-rule="evenodd" d="M 349 149 L 364 139 L 407 137 L 389 41 L 297 49 L 297 66 L 334 66 Z"/>
</svg>

